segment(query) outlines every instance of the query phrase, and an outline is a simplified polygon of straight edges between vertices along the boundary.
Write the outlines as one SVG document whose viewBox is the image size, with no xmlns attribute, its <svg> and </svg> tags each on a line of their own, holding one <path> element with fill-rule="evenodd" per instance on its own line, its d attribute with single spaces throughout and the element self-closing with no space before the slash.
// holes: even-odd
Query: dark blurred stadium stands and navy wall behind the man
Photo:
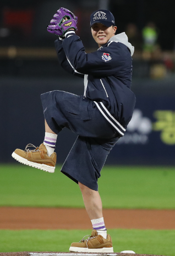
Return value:
<svg viewBox="0 0 175 256">
<path fill-rule="evenodd" d="M 175 2 L 156 0 L 1 0 L 0 3 L 0 162 L 13 162 L 15 148 L 44 137 L 40 94 L 64 90 L 78 95 L 83 80 L 58 64 L 54 40 L 47 32 L 53 14 L 65 7 L 78 16 L 78 32 L 86 52 L 97 45 L 89 19 L 96 9 L 109 9 L 117 33 L 135 46 L 132 90 L 136 107 L 127 133 L 108 156 L 107 164 L 174 165 L 175 145 Z M 56 151 L 63 163 L 75 134 L 63 130 Z"/>
</svg>

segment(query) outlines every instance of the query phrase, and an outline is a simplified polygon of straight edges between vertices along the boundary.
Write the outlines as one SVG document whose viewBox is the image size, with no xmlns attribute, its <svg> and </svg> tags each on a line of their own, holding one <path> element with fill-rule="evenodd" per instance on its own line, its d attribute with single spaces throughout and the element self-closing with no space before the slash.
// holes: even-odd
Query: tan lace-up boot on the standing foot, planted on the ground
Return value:
<svg viewBox="0 0 175 256">
<path fill-rule="evenodd" d="M 86 236 L 85 236 L 86 237 Z M 84 238 L 85 238 L 84 237 Z M 112 239 L 110 234 L 103 238 L 97 234 L 95 229 L 92 230 L 91 236 L 87 239 L 81 239 L 78 243 L 70 245 L 70 252 L 89 252 L 89 253 L 113 253 Z"/>
</svg>

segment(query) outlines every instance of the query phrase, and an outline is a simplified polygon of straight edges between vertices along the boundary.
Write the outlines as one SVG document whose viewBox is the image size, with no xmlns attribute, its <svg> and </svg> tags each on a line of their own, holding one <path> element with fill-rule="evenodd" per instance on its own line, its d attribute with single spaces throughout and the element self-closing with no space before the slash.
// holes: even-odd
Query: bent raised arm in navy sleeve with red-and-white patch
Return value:
<svg viewBox="0 0 175 256">
<path fill-rule="evenodd" d="M 80 73 L 96 76 L 110 76 L 122 72 L 125 61 L 132 61 L 130 52 L 122 43 L 109 42 L 107 47 L 86 54 L 79 36 L 65 38 L 63 49 L 68 60 Z"/>
</svg>

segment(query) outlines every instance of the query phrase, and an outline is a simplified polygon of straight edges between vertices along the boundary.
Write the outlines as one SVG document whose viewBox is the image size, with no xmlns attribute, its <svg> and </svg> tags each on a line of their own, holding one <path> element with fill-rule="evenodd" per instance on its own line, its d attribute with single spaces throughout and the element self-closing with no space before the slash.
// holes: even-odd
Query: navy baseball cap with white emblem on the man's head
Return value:
<svg viewBox="0 0 175 256">
<path fill-rule="evenodd" d="M 106 27 L 111 27 L 112 25 L 115 25 L 115 20 L 110 11 L 100 9 L 91 14 L 90 27 L 92 27 L 92 25 L 95 23 L 102 23 Z"/>
</svg>

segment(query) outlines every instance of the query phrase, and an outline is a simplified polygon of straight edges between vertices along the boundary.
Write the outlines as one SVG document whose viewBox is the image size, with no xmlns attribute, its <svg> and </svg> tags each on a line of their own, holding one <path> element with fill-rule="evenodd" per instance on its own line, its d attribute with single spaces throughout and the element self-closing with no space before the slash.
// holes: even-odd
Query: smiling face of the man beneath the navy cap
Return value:
<svg viewBox="0 0 175 256">
<path fill-rule="evenodd" d="M 108 40 L 116 33 L 117 27 L 106 27 L 101 23 L 95 23 L 91 27 L 91 32 L 94 40 L 100 46 L 106 44 Z"/>
</svg>

